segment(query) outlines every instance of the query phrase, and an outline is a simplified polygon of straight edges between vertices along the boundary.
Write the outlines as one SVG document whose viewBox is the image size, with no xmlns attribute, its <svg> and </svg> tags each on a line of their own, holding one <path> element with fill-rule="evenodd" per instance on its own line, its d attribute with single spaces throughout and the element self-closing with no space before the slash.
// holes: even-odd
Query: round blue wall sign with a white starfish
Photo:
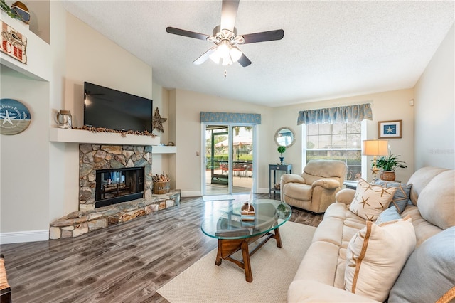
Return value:
<svg viewBox="0 0 455 303">
<path fill-rule="evenodd" d="M 14 99 L 0 99 L 0 134 L 18 134 L 30 122 L 30 111 L 25 105 Z"/>
</svg>

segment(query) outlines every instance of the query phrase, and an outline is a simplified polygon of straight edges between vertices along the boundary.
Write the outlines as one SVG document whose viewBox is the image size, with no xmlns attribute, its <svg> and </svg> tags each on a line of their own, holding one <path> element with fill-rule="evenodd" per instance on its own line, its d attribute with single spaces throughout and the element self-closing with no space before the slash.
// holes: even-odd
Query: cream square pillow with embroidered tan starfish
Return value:
<svg viewBox="0 0 455 303">
<path fill-rule="evenodd" d="M 397 188 L 369 184 L 359 179 L 355 196 L 349 209 L 365 220 L 375 221 L 382 211 L 389 207 Z"/>
</svg>

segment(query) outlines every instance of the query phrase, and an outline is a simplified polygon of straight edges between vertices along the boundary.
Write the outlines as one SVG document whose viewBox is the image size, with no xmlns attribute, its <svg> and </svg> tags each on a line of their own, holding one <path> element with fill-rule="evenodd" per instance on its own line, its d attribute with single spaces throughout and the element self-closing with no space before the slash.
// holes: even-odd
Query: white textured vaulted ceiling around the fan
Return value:
<svg viewBox="0 0 455 303">
<path fill-rule="evenodd" d="M 213 43 L 221 1 L 75 1 L 65 8 L 153 68 L 154 81 L 267 106 L 414 87 L 455 20 L 454 1 L 240 1 L 238 34 L 284 38 L 239 46 L 252 61 L 192 62 Z M 224 71 L 227 77 L 224 77 Z"/>
</svg>

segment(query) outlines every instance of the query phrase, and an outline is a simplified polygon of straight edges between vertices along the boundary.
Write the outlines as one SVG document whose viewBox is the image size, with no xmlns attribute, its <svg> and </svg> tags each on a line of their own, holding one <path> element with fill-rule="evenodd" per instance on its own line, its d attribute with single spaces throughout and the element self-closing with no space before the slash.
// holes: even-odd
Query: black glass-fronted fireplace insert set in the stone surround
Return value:
<svg viewBox="0 0 455 303">
<path fill-rule="evenodd" d="M 96 171 L 95 208 L 144 197 L 144 167 Z"/>
</svg>

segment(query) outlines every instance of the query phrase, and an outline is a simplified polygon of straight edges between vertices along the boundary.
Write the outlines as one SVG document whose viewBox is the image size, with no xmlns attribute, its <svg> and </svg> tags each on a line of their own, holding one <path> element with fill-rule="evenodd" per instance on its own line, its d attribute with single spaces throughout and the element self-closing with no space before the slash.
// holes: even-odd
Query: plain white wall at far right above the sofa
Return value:
<svg viewBox="0 0 455 303">
<path fill-rule="evenodd" d="M 454 26 L 415 86 L 415 168 L 455 169 Z"/>
</svg>

